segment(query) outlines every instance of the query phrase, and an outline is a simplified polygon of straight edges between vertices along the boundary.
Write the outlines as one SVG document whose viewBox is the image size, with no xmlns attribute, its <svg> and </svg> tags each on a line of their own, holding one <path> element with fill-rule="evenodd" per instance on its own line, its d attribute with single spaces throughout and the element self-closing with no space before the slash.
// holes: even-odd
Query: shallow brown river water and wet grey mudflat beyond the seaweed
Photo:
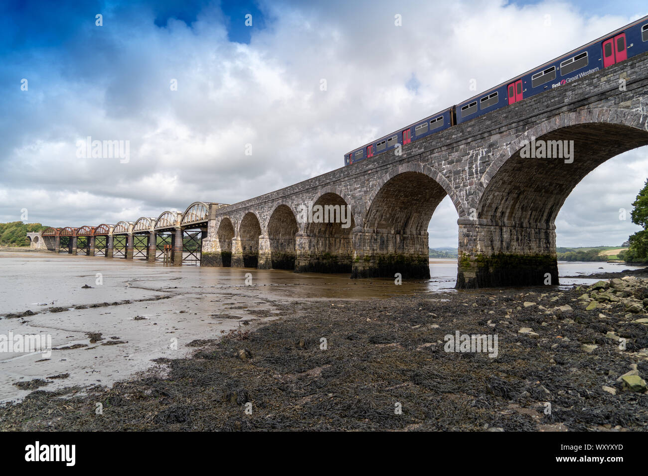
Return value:
<svg viewBox="0 0 648 476">
<path fill-rule="evenodd" d="M 559 263 L 561 276 L 583 275 L 563 278 L 561 285 L 594 282 L 586 275 L 623 269 L 636 267 Z M 0 316 L 34 313 L 0 318 L 0 339 L 10 333 L 47 335 L 53 348 L 50 352 L 11 352 L 16 348 L 0 352 L 0 402 L 20 400 L 29 391 L 13 384 L 37 378 L 49 381 L 41 387 L 48 391 L 71 385 L 111 385 L 150 368 L 152 359 L 190 354 L 194 347 L 187 344 L 194 339 L 214 339 L 223 332 L 253 328 L 286 315 L 291 302 L 449 291 L 454 288 L 456 272 L 456 260 L 434 258 L 430 280 L 395 286 L 388 278 L 352 280 L 349 275 L 279 270 L 164 267 L 144 260 L 0 251 Z M 102 339 L 91 343 L 87 333 L 96 332 Z M 106 345 L 111 342 L 117 344 Z M 69 348 L 73 346 L 78 347 Z M 69 375 L 48 379 L 60 374 Z"/>
</svg>

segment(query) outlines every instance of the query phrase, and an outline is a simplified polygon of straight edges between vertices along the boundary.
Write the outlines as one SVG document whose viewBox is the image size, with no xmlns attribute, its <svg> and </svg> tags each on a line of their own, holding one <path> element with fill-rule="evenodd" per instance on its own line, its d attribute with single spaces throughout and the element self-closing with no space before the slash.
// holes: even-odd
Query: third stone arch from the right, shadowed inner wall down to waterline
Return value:
<svg viewBox="0 0 648 476">
<path fill-rule="evenodd" d="M 325 190 L 314 201 L 312 216 L 309 212 L 309 216 L 305 217 L 307 224 L 304 227 L 304 236 L 298 237 L 298 241 L 303 239 L 304 242 L 297 252 L 295 270 L 349 273 L 353 260 L 351 232 L 356 226 L 353 207 L 340 194 Z"/>
</svg>

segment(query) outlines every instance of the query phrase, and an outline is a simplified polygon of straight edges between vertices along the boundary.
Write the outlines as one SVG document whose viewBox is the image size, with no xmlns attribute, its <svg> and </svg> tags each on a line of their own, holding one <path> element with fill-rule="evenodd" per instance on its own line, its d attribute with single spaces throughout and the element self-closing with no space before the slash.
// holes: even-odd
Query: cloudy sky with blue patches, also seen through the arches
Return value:
<svg viewBox="0 0 648 476">
<path fill-rule="evenodd" d="M 0 221 L 27 209 L 29 222 L 97 225 L 252 198 L 474 95 L 471 79 L 488 89 L 648 10 L 645 0 L 56 4 L 0 6 Z M 88 136 L 129 141 L 128 163 L 79 157 Z M 648 148 L 599 166 L 562 207 L 558 245 L 621 244 L 638 229 L 629 212 L 647 177 Z M 456 247 L 456 220 L 446 197 L 430 245 Z"/>
</svg>

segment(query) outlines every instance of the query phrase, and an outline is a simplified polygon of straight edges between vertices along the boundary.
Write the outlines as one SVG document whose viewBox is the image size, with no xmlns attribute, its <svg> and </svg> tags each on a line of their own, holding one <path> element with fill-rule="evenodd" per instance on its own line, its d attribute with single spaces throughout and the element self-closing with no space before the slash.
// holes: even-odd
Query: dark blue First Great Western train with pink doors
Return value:
<svg viewBox="0 0 648 476">
<path fill-rule="evenodd" d="M 648 51 L 648 16 L 344 155 L 345 166 L 505 108 Z"/>
</svg>

